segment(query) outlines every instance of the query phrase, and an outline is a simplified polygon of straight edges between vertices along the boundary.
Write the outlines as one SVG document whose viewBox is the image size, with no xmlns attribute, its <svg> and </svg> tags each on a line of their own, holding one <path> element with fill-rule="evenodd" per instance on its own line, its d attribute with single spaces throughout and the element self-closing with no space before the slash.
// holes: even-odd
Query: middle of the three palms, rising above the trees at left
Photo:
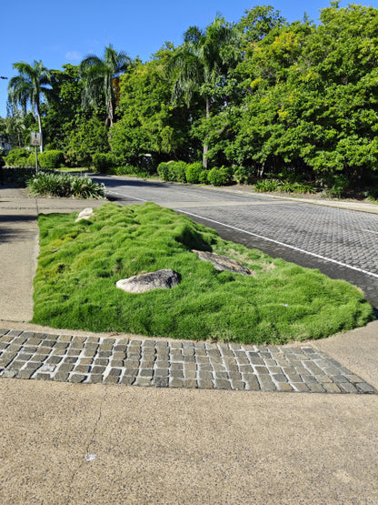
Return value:
<svg viewBox="0 0 378 505">
<path fill-rule="evenodd" d="M 130 64 L 129 56 L 122 51 L 117 53 L 113 45 L 105 47 L 103 58 L 89 55 L 80 64 L 80 74 L 85 82 L 83 105 L 96 106 L 104 96 L 107 126 L 114 123 L 115 90 L 119 76 Z"/>
</svg>

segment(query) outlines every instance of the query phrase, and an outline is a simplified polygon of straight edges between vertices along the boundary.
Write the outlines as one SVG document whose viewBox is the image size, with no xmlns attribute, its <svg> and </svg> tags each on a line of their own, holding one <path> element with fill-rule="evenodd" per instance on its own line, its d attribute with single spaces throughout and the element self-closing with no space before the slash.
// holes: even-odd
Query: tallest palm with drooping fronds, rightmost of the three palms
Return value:
<svg viewBox="0 0 378 505">
<path fill-rule="evenodd" d="M 190 106 L 194 92 L 204 97 L 206 119 L 214 96 L 219 90 L 222 77 L 227 74 L 225 61 L 226 45 L 234 43 L 236 31 L 225 24 L 224 17 L 216 15 L 214 22 L 205 30 L 190 26 L 184 33 L 184 44 L 181 45 L 170 63 L 170 71 L 174 73 L 174 102 L 179 96 L 184 96 L 187 106 Z M 204 144 L 204 167 L 207 167 L 207 146 Z"/>
</svg>

